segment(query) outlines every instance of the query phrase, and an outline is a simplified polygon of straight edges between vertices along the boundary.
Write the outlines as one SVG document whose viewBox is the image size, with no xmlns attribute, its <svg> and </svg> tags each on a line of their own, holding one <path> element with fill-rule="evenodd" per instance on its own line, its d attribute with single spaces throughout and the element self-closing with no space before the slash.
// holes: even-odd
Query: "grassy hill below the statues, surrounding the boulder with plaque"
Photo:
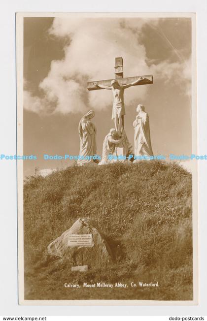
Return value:
<svg viewBox="0 0 207 321">
<path fill-rule="evenodd" d="M 110 269 L 71 272 L 45 249 L 78 218 L 108 241 Z M 24 185 L 25 299 L 191 300 L 192 177 L 160 161 L 69 167 Z M 65 282 L 159 282 L 158 288 L 67 289 Z"/>
</svg>

